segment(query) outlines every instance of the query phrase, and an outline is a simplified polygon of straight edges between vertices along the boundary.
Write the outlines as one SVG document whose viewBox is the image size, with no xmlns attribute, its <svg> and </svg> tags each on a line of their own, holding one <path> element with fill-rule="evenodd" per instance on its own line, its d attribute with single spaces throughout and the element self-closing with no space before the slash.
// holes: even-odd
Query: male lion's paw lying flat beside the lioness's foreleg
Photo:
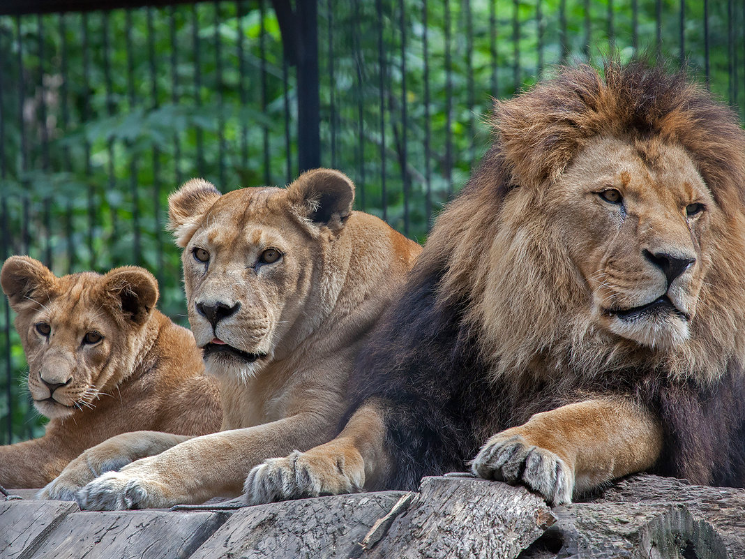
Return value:
<svg viewBox="0 0 745 559">
<path fill-rule="evenodd" d="M 285 499 L 355 493 L 364 485 L 364 470 L 341 455 L 294 451 L 253 468 L 244 484 L 250 505 Z"/>
</svg>

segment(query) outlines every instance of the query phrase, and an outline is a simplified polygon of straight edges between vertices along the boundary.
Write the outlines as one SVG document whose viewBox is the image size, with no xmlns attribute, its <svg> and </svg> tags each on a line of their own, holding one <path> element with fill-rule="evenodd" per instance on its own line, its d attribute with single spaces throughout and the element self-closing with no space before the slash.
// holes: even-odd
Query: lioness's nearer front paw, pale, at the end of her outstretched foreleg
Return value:
<svg viewBox="0 0 745 559">
<path fill-rule="evenodd" d="M 80 508 L 89 511 L 124 511 L 128 508 L 170 506 L 161 484 L 125 472 L 108 472 L 75 494 Z"/>
</svg>

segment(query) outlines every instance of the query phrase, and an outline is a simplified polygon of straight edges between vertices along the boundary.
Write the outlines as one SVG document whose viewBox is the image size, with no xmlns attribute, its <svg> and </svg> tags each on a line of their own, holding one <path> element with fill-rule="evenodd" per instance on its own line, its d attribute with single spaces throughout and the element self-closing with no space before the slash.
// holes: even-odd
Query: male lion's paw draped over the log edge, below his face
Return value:
<svg viewBox="0 0 745 559">
<path fill-rule="evenodd" d="M 550 505 L 571 503 L 574 473 L 554 452 L 531 445 L 520 435 L 490 438 L 476 455 L 472 470 L 484 479 L 527 485 Z"/>
</svg>

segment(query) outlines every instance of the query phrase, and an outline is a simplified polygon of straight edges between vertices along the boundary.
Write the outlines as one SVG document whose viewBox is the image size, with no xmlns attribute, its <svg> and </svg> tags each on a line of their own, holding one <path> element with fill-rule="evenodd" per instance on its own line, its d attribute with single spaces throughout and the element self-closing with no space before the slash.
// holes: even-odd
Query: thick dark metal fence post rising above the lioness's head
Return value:
<svg viewBox="0 0 745 559">
<path fill-rule="evenodd" d="M 318 1 L 297 0 L 295 10 L 290 0 L 272 0 L 272 4 L 288 62 L 297 72 L 297 152 L 302 173 L 321 163 Z"/>
</svg>

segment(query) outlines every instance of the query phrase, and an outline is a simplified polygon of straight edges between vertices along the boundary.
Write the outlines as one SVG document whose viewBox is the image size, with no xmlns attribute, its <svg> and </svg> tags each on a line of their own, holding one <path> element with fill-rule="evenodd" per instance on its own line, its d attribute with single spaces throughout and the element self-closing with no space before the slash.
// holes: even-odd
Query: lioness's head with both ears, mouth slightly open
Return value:
<svg viewBox="0 0 745 559">
<path fill-rule="evenodd" d="M 210 373 L 255 376 L 317 326 L 326 247 L 352 200 L 349 179 L 326 170 L 288 189 L 221 195 L 191 180 L 171 195 L 189 323 Z"/>
</svg>

